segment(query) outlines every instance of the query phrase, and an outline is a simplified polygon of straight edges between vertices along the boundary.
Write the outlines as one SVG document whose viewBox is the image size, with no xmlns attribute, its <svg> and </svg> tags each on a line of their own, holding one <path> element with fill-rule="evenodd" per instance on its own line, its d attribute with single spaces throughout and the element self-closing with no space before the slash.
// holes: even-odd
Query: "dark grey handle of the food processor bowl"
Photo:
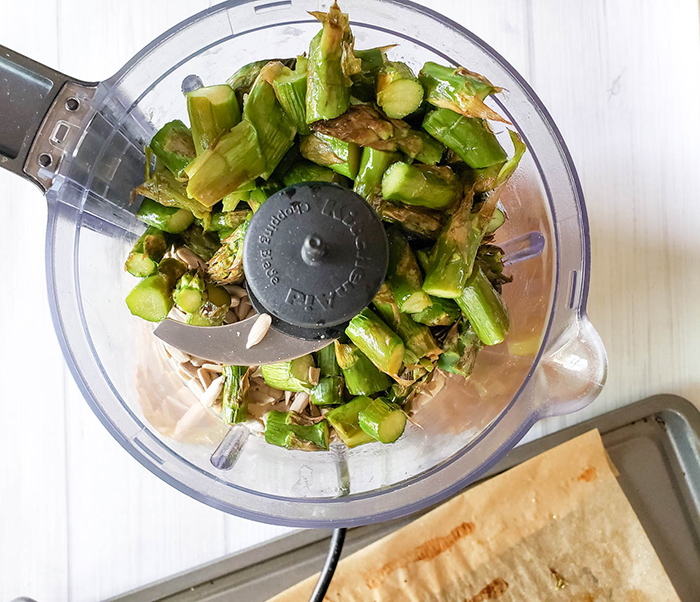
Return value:
<svg viewBox="0 0 700 602">
<path fill-rule="evenodd" d="M 94 89 L 0 45 L 0 167 L 46 192 Z"/>
</svg>

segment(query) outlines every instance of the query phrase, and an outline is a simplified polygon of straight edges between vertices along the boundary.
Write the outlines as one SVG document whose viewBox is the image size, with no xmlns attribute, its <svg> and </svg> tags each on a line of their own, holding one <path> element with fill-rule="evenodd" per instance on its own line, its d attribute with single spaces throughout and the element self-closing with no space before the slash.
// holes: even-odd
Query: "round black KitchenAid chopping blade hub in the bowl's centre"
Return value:
<svg viewBox="0 0 700 602">
<path fill-rule="evenodd" d="M 336 338 L 384 281 L 379 216 L 356 193 L 312 182 L 273 194 L 253 216 L 243 269 L 253 306 L 291 336 Z"/>
</svg>

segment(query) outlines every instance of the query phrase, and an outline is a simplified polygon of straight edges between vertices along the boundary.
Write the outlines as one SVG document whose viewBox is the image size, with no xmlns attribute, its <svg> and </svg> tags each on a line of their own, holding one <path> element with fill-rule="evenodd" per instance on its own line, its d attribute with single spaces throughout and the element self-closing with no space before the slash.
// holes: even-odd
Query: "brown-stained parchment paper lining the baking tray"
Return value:
<svg viewBox="0 0 700 602">
<path fill-rule="evenodd" d="M 324 600 L 680 602 L 613 471 L 572 439 L 342 560 Z"/>
</svg>

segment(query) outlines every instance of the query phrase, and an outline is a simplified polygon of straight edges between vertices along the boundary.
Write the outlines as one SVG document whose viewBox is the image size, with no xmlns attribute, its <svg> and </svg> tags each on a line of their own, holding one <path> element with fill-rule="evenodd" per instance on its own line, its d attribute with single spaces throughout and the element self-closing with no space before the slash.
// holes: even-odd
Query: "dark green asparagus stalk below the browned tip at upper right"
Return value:
<svg viewBox="0 0 700 602">
<path fill-rule="evenodd" d="M 423 129 L 474 169 L 507 159 L 503 147 L 483 119 L 465 117 L 450 109 L 435 109 L 425 116 Z"/>
</svg>

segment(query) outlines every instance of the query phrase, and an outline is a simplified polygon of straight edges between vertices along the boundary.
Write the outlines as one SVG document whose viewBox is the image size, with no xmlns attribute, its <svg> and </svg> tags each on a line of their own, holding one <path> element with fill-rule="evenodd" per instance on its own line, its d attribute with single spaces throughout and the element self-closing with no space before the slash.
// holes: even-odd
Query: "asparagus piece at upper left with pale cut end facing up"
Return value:
<svg viewBox="0 0 700 602">
<path fill-rule="evenodd" d="M 207 86 L 187 94 L 192 139 L 197 155 L 214 146 L 241 120 L 241 108 L 230 86 Z"/>
</svg>

